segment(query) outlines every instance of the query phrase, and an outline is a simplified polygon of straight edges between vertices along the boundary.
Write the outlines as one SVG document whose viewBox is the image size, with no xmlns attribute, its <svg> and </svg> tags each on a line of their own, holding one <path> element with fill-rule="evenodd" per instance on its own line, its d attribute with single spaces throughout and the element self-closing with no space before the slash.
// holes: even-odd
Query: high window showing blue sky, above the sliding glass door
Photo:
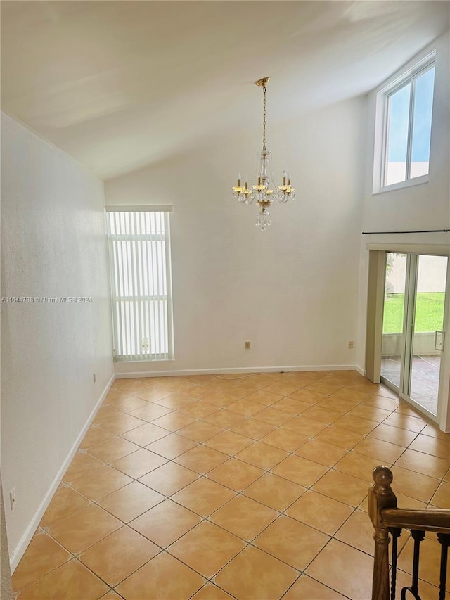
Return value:
<svg viewBox="0 0 450 600">
<path fill-rule="evenodd" d="M 385 98 L 382 189 L 428 179 L 434 84 L 433 56 L 380 92 Z"/>
</svg>

